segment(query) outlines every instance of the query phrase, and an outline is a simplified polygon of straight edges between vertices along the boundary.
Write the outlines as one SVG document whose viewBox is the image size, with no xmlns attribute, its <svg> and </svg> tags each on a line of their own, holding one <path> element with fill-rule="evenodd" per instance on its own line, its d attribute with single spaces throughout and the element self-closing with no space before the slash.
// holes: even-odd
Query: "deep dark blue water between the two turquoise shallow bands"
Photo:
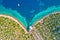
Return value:
<svg viewBox="0 0 60 40">
<path fill-rule="evenodd" d="M 20 6 L 18 6 L 18 3 Z M 60 0 L 0 0 L 0 4 L 5 8 L 18 11 L 26 18 L 29 26 L 37 13 L 46 10 L 48 7 L 60 5 Z"/>
</svg>

